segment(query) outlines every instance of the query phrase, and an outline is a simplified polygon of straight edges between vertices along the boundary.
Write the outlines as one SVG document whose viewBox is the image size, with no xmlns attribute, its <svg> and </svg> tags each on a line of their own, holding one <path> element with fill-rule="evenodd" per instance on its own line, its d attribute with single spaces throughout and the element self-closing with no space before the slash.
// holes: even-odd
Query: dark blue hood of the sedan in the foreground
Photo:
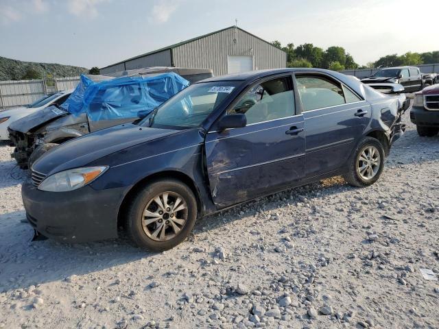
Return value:
<svg viewBox="0 0 439 329">
<path fill-rule="evenodd" d="M 32 170 L 51 175 L 76 167 L 84 167 L 104 156 L 128 147 L 176 134 L 179 130 L 140 127 L 133 123 L 117 125 L 61 144 L 39 158 Z"/>
</svg>

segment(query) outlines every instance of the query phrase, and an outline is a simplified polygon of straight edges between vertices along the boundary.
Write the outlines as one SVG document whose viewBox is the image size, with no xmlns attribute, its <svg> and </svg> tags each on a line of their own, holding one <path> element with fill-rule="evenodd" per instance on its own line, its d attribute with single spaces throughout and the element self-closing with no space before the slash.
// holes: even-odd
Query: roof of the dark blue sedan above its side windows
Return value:
<svg viewBox="0 0 439 329">
<path fill-rule="evenodd" d="M 215 81 L 248 81 L 257 80 L 261 77 L 268 77 L 270 75 L 282 74 L 282 73 L 294 73 L 294 72 L 321 72 L 329 73 L 331 75 L 340 75 L 335 71 L 329 71 L 325 69 L 309 69 L 309 68 L 285 68 L 285 69 L 269 69 L 269 70 L 258 70 L 258 71 L 248 71 L 241 73 L 232 73 L 227 75 L 219 75 L 217 77 L 209 77 L 208 79 L 202 80 L 201 82 L 215 82 Z M 197 82 L 200 83 L 200 82 Z"/>
</svg>

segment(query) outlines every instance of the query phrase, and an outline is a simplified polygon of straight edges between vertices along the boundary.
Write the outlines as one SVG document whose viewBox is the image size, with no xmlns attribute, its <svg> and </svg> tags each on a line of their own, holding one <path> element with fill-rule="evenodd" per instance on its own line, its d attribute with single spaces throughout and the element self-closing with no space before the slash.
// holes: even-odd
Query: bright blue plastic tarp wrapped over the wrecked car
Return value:
<svg viewBox="0 0 439 329">
<path fill-rule="evenodd" d="M 80 84 L 64 102 L 67 106 L 62 107 L 73 114 L 86 112 L 91 121 L 134 118 L 139 111 L 151 112 L 187 86 L 187 80 L 172 72 L 98 83 L 82 75 Z"/>
</svg>

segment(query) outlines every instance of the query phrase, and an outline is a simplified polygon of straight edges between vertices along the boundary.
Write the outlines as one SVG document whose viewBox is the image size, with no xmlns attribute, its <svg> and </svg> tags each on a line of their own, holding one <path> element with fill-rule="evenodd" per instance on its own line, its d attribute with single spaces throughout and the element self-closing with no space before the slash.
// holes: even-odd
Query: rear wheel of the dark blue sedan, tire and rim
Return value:
<svg viewBox="0 0 439 329">
<path fill-rule="evenodd" d="M 348 160 L 344 180 L 352 186 L 369 186 L 377 182 L 383 167 L 383 145 L 376 138 L 365 137 Z"/>
</svg>

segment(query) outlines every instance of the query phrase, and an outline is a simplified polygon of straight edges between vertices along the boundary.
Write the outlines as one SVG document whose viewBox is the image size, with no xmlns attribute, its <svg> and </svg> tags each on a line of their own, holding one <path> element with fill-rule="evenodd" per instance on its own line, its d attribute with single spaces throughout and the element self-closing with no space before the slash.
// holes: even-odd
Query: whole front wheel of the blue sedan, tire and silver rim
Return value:
<svg viewBox="0 0 439 329">
<path fill-rule="evenodd" d="M 195 224 L 197 202 L 178 180 L 145 185 L 128 206 L 126 229 L 139 247 L 163 252 L 184 241 Z"/>
</svg>

